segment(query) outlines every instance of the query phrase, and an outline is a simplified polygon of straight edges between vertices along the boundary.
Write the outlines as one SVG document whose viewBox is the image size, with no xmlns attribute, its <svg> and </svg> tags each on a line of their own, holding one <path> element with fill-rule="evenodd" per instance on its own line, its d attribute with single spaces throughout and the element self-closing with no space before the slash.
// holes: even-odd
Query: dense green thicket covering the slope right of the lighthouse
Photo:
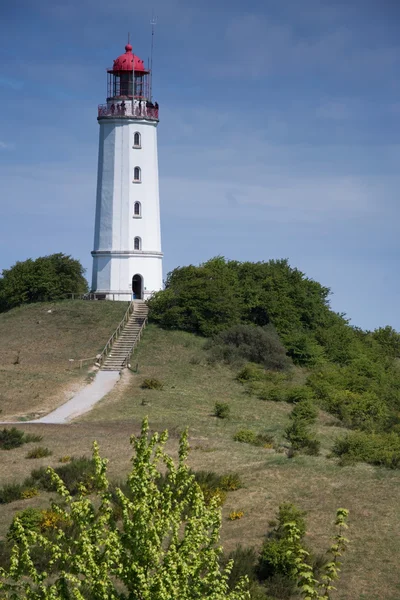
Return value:
<svg viewBox="0 0 400 600">
<path fill-rule="evenodd" d="M 302 395 L 312 398 L 346 427 L 379 434 L 380 442 L 371 452 L 364 443 L 368 436 L 357 437 L 356 445 L 363 446 L 362 460 L 369 460 L 371 454 L 373 464 L 397 467 L 400 444 L 393 442 L 397 438 L 391 433 L 400 432 L 400 335 L 390 326 L 374 332 L 352 327 L 344 315 L 331 310 L 329 293 L 286 260 L 239 263 L 214 258 L 199 267 L 172 271 L 165 290 L 150 301 L 150 316 L 164 328 L 213 337 L 211 345 L 218 347 L 219 358 L 228 362 L 241 352 L 244 341 L 244 332 L 239 339 L 234 328 L 252 325 L 253 351 L 249 350 L 248 356 L 266 368 L 274 368 L 271 357 L 276 360 L 279 353 L 282 355 L 277 340 L 274 348 L 271 345 L 277 334 L 292 364 L 307 370 L 307 389 Z M 269 359 L 268 352 L 257 355 L 262 331 L 264 337 L 268 331 Z M 248 341 L 246 344 L 249 348 Z M 258 393 L 262 393 L 261 388 L 258 386 Z M 356 459 L 351 439 L 348 445 L 352 451 L 347 458 Z M 378 451 L 386 439 L 394 447 L 389 456 Z M 342 444 L 340 451 L 344 448 Z"/>
</svg>

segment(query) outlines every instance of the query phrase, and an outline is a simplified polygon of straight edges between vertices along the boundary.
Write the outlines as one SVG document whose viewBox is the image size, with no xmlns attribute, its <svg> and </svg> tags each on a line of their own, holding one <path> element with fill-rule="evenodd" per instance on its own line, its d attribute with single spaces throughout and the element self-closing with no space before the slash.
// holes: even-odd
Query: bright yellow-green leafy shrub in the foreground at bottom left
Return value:
<svg viewBox="0 0 400 600">
<path fill-rule="evenodd" d="M 135 455 L 127 480 L 132 499 L 117 490 L 123 506 L 121 522 L 113 517 L 107 461 L 100 458 L 96 444 L 94 487 L 98 491 L 94 500 L 83 489 L 74 499 L 49 469 L 63 499 L 63 506 L 53 504 L 52 509 L 73 523 L 76 537 L 72 539 L 58 527 L 57 535 L 49 538 L 15 519 L 11 566 L 7 572 L 0 571 L 2 598 L 250 598 L 244 580 L 229 590 L 232 565 L 219 565 L 221 515 L 214 501 L 205 504 L 187 467 L 187 434 L 181 437 L 175 465 L 164 450 L 166 432 L 149 437 L 148 431 L 145 420 L 141 435 L 132 437 Z M 161 489 L 157 485 L 160 464 L 167 481 Z M 35 567 L 34 547 L 48 555 L 46 568 Z M 57 571 L 50 573 L 52 565 L 57 565 Z"/>
</svg>

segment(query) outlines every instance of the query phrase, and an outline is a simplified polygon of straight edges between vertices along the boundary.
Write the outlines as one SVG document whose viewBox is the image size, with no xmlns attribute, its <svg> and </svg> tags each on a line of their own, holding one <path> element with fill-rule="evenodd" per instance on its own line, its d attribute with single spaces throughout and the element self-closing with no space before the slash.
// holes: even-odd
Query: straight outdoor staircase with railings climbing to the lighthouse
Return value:
<svg viewBox="0 0 400 600">
<path fill-rule="evenodd" d="M 120 371 L 139 339 L 140 330 L 147 319 L 148 308 L 144 302 L 135 302 L 135 310 L 129 317 L 119 338 L 113 343 L 104 360 L 102 371 Z"/>
</svg>

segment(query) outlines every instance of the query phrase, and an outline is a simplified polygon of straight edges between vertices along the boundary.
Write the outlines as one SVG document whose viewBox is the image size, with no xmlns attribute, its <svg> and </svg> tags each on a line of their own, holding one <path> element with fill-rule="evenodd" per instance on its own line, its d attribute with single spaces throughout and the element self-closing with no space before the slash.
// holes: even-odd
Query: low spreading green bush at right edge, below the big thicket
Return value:
<svg viewBox="0 0 400 600">
<path fill-rule="evenodd" d="M 354 431 L 335 440 L 332 454 L 342 465 L 364 461 L 389 469 L 400 468 L 400 436 L 397 433 Z"/>
</svg>

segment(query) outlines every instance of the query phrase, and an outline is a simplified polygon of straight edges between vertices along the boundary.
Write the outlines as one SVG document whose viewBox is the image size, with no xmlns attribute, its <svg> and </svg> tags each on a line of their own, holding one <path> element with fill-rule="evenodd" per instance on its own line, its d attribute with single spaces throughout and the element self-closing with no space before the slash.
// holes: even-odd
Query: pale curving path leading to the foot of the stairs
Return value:
<svg viewBox="0 0 400 600">
<path fill-rule="evenodd" d="M 72 421 L 72 419 L 76 419 L 84 413 L 89 412 L 99 400 L 104 398 L 104 396 L 113 389 L 119 378 L 119 371 L 98 371 L 92 383 L 78 392 L 71 400 L 68 400 L 68 402 L 59 406 L 45 417 L 35 419 L 34 421 L 7 421 L 2 424 L 68 423 L 69 421 Z"/>
</svg>

